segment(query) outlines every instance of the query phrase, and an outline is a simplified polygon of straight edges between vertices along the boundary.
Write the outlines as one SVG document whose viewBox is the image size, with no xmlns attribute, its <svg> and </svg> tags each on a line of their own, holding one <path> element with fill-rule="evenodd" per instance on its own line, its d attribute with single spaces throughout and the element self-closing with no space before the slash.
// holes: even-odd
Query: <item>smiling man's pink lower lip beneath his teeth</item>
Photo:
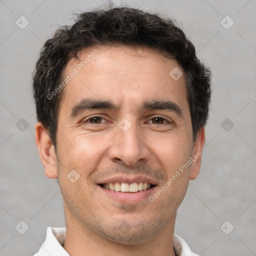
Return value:
<svg viewBox="0 0 256 256">
<path fill-rule="evenodd" d="M 106 188 L 101 187 L 98 185 L 101 191 L 109 198 L 115 199 L 120 202 L 139 202 L 141 200 L 149 200 L 149 196 L 154 192 L 156 186 L 153 186 L 147 190 L 141 190 L 137 192 L 116 192 Z"/>
</svg>

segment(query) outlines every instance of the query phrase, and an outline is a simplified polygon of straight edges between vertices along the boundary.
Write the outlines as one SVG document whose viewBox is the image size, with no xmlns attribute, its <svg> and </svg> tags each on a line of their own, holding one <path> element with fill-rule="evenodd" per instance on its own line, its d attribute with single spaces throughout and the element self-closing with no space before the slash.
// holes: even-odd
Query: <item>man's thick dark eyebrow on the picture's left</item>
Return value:
<svg viewBox="0 0 256 256">
<path fill-rule="evenodd" d="M 88 109 L 118 109 L 110 100 L 83 98 L 71 109 L 70 117 L 74 118 L 79 113 Z"/>
</svg>

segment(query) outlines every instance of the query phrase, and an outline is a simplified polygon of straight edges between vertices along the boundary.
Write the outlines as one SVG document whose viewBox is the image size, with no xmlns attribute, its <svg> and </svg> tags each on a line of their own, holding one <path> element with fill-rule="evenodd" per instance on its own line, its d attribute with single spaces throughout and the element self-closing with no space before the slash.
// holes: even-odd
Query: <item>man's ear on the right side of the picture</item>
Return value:
<svg viewBox="0 0 256 256">
<path fill-rule="evenodd" d="M 195 179 L 200 171 L 201 166 L 201 154 L 202 154 L 202 148 L 204 146 L 205 142 L 205 130 L 204 127 L 201 127 L 199 131 L 197 132 L 196 140 L 194 141 L 193 146 L 193 162 L 191 165 L 190 170 L 190 179 Z"/>
</svg>

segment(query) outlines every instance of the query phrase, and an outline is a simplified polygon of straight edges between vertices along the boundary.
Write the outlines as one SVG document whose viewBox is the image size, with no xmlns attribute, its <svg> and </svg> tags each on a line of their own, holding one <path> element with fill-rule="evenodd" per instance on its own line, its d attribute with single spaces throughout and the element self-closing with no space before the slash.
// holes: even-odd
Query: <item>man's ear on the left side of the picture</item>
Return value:
<svg viewBox="0 0 256 256">
<path fill-rule="evenodd" d="M 48 130 L 41 122 L 35 124 L 35 143 L 44 166 L 44 174 L 49 178 L 57 178 L 57 157 L 54 146 L 49 138 Z"/>
</svg>

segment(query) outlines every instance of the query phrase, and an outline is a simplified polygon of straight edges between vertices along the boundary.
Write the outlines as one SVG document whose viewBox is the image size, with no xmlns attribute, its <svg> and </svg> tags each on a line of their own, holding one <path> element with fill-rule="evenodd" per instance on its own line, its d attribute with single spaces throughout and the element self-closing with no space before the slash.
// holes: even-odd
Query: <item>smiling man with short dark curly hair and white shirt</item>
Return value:
<svg viewBox="0 0 256 256">
<path fill-rule="evenodd" d="M 196 255 L 173 232 L 200 169 L 209 83 L 170 19 L 110 8 L 58 29 L 33 89 L 36 145 L 66 228 L 48 227 L 35 255 Z"/>
</svg>

